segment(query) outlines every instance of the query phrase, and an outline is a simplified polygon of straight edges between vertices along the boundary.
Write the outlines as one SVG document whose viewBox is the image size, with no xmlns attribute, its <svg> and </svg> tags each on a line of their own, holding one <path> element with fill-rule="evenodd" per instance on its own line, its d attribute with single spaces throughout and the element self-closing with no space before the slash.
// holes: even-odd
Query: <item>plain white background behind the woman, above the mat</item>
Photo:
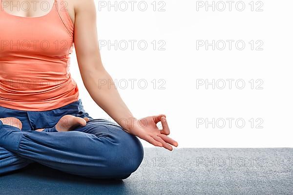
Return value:
<svg viewBox="0 0 293 195">
<path fill-rule="evenodd" d="M 135 117 L 166 114 L 170 137 L 178 141 L 178 147 L 293 147 L 292 1 L 252 1 L 253 11 L 251 0 L 238 6 L 238 1 L 233 1 L 231 11 L 226 1 L 224 11 L 220 11 L 223 3 L 219 1 L 214 1 L 214 11 L 213 7 L 206 11 L 206 1 L 201 1 L 201 7 L 196 0 L 135 1 L 133 11 L 129 1 L 124 1 L 126 11 L 122 1 L 116 1 L 117 11 L 108 1 L 95 2 L 100 42 L 122 41 L 117 49 L 100 45 L 103 64 L 117 80 L 118 90 Z M 114 0 L 110 2 L 115 4 Z M 243 3 L 245 8 L 240 11 Z M 142 11 L 145 4 L 148 7 Z M 136 40 L 133 50 L 129 40 Z M 139 48 L 141 40 L 147 42 L 146 50 Z M 160 40 L 166 43 L 165 50 L 159 49 Z M 218 45 L 214 50 L 212 46 L 198 47 L 198 40 L 215 40 Z M 221 40 L 226 42 L 223 50 Z M 234 41 L 231 50 L 227 40 Z M 243 50 L 240 43 L 236 48 L 238 40 L 245 43 Z M 110 119 L 85 90 L 75 53 L 71 56 L 71 75 L 79 86 L 85 110 L 92 117 Z M 129 79 L 137 79 L 133 89 Z M 212 85 L 197 86 L 200 79 L 214 79 L 214 89 Z M 227 79 L 234 79 L 231 87 Z M 238 79 L 242 82 L 236 85 Z M 219 89 L 223 80 L 226 87 Z M 245 87 L 238 89 L 243 81 Z M 213 118 L 214 128 L 207 123 Z M 227 118 L 232 118 L 231 128 Z M 226 125 L 221 128 L 223 120 Z M 245 125 L 240 128 L 242 121 Z M 263 128 L 257 128 L 258 124 Z M 146 141 L 142 143 L 152 147 Z"/>
</svg>

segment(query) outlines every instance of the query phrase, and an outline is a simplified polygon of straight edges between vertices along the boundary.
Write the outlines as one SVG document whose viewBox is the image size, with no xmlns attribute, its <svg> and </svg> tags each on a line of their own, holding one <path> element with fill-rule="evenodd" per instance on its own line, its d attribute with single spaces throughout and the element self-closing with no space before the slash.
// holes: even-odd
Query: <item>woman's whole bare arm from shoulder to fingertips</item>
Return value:
<svg viewBox="0 0 293 195">
<path fill-rule="evenodd" d="M 115 85 L 101 85 L 101 80 L 107 83 L 114 82 L 101 60 L 96 15 L 94 0 L 76 1 L 74 44 L 86 90 L 97 105 L 123 127 L 127 133 L 145 139 L 155 146 L 163 146 L 172 150 L 172 147 L 167 143 L 175 146 L 178 144 L 167 137 L 169 129 L 165 115 L 137 120 L 120 97 Z M 155 126 L 159 121 L 162 121 L 163 124 L 163 130 L 161 131 Z"/>
</svg>

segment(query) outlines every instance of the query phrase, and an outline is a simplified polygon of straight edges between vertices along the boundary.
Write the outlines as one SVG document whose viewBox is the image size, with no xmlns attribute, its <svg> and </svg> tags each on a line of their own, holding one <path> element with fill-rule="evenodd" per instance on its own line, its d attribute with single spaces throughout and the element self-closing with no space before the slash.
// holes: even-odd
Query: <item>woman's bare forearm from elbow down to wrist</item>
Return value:
<svg viewBox="0 0 293 195">
<path fill-rule="evenodd" d="M 104 70 L 91 70 L 83 77 L 84 86 L 91 98 L 126 132 L 130 133 L 134 122 L 130 110 L 122 100 L 113 79 Z"/>
</svg>

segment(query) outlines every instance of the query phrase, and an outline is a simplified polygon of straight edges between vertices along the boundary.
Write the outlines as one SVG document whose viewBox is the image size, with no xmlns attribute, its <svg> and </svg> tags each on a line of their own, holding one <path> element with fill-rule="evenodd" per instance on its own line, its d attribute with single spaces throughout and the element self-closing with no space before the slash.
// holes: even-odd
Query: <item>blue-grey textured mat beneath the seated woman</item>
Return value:
<svg viewBox="0 0 293 195">
<path fill-rule="evenodd" d="M 293 149 L 145 148 L 121 181 L 31 164 L 0 176 L 0 195 L 293 195 Z"/>
</svg>

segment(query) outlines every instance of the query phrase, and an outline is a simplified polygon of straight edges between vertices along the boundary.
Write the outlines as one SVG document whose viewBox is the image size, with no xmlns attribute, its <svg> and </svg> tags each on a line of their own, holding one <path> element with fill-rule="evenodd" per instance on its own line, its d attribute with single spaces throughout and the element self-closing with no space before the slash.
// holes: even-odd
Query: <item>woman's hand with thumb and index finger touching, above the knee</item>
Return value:
<svg viewBox="0 0 293 195">
<path fill-rule="evenodd" d="M 157 123 L 160 121 L 163 126 L 162 130 L 157 127 Z M 146 140 L 154 146 L 164 147 L 170 151 L 173 149 L 171 145 L 178 146 L 175 140 L 167 136 L 170 134 L 170 130 L 165 115 L 142 118 L 138 121 L 138 126 L 138 133 L 135 136 Z"/>
</svg>

